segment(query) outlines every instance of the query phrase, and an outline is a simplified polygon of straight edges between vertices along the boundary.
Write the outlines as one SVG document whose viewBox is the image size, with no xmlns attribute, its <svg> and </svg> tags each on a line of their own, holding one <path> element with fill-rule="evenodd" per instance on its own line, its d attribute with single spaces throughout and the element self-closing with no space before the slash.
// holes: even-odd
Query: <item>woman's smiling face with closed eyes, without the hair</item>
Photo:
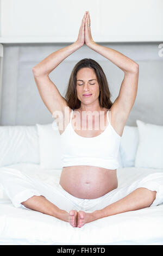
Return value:
<svg viewBox="0 0 163 256">
<path fill-rule="evenodd" d="M 99 84 L 93 69 L 82 68 L 77 72 L 77 97 L 85 104 L 98 101 Z"/>
</svg>

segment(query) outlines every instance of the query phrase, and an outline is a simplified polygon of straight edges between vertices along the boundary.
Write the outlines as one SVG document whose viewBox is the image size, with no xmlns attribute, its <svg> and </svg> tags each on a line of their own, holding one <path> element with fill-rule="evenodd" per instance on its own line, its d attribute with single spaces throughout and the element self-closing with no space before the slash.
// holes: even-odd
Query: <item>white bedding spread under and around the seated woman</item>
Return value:
<svg viewBox="0 0 163 256">
<path fill-rule="evenodd" d="M 61 173 L 61 169 L 41 169 L 39 164 L 23 163 L 8 167 L 49 184 L 59 182 Z M 0 172 L 1 169 L 3 167 Z M 118 186 L 155 172 L 163 170 L 119 168 Z M 101 218 L 82 228 L 73 228 L 52 216 L 15 208 L 3 194 L 1 186 L 0 191 L 0 245 L 163 245 L 163 204 Z"/>
</svg>

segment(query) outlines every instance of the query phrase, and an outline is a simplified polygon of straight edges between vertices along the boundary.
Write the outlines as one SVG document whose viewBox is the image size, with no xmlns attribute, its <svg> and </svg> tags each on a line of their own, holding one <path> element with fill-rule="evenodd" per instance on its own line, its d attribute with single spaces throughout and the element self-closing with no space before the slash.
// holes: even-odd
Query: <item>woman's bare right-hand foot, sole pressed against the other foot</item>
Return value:
<svg viewBox="0 0 163 256">
<path fill-rule="evenodd" d="M 78 228 L 82 228 L 85 223 L 97 220 L 93 212 L 78 211 Z"/>
</svg>

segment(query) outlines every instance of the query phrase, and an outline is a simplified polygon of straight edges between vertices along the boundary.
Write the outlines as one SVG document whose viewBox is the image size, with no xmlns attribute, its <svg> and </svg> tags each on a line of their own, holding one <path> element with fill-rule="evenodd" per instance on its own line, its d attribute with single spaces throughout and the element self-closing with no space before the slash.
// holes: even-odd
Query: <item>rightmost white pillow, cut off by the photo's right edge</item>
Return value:
<svg viewBox="0 0 163 256">
<path fill-rule="evenodd" d="M 163 168 L 163 126 L 136 120 L 139 147 L 135 167 Z"/>
</svg>

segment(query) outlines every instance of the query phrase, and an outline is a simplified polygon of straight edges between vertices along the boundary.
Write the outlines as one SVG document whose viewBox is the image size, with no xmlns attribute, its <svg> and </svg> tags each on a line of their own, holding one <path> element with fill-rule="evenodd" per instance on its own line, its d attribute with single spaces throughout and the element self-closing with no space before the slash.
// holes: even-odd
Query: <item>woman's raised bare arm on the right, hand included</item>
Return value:
<svg viewBox="0 0 163 256">
<path fill-rule="evenodd" d="M 90 15 L 87 13 L 85 21 L 85 44 L 92 50 L 109 59 L 124 72 L 120 93 L 114 102 L 114 108 L 116 109 L 115 112 L 121 113 L 121 117 L 127 120 L 136 99 L 139 64 L 116 50 L 96 44 L 92 39 L 90 26 L 87 26 L 89 24 Z"/>
</svg>

